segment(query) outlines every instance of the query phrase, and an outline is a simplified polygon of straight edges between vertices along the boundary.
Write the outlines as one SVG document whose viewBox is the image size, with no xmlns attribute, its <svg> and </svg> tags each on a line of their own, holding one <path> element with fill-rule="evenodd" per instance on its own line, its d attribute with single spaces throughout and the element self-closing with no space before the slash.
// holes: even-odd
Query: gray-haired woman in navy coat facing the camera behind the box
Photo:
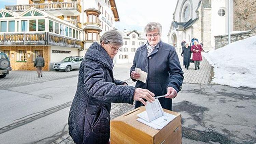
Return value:
<svg viewBox="0 0 256 144">
<path fill-rule="evenodd" d="M 132 81 L 137 81 L 140 74 L 135 68 L 147 73 L 146 83 L 137 81 L 136 88 L 145 88 L 159 98 L 164 109 L 172 110 L 172 99 L 177 96 L 183 83 L 183 72 L 175 48 L 161 41 L 162 26 L 159 23 L 148 23 L 144 29 L 147 43 L 140 46 L 134 56 L 130 69 Z M 136 101 L 135 108 L 143 106 Z"/>
</svg>

